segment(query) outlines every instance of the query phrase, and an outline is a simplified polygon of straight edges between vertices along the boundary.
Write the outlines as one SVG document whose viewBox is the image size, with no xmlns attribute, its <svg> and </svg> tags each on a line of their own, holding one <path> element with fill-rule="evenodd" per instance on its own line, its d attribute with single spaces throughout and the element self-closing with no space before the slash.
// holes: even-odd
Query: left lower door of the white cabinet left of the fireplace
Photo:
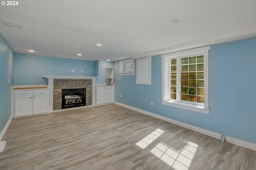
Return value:
<svg viewBox="0 0 256 170">
<path fill-rule="evenodd" d="M 32 115 L 32 96 L 14 97 L 14 117 Z"/>
</svg>

